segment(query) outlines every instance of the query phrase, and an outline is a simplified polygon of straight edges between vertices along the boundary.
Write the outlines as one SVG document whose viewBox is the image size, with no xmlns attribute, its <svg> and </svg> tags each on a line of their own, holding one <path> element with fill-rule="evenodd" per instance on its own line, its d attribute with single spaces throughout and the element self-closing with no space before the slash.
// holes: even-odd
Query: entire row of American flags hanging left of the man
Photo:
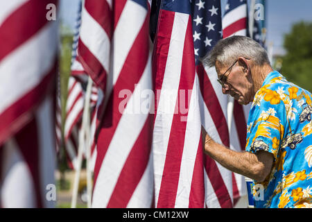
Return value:
<svg viewBox="0 0 312 222">
<path fill-rule="evenodd" d="M 55 205 L 46 200 L 44 185 L 54 183 L 53 157 L 62 144 L 69 167 L 79 167 L 88 76 L 93 80 L 88 144 L 94 171 L 92 207 L 234 207 L 246 194 L 243 176 L 202 152 L 200 134 L 203 126 L 220 144 L 245 148 L 249 110 L 234 103 L 228 128 L 229 98 L 220 93 L 214 67 L 204 67 L 200 58 L 223 37 L 248 34 L 246 0 L 228 0 L 223 18 L 220 0 L 80 2 L 64 136 L 60 100 L 53 97 L 57 23 L 27 14 L 45 8 L 46 1 L 10 2 L 0 9 L 6 15 L 0 17 L 0 39 L 12 42 L 0 49 L 1 79 L 8 79 L 0 83 L 0 96 L 8 101 L 0 104 L 1 207 Z M 33 29 L 17 22 L 15 17 L 23 16 Z M 6 32 L 14 24 L 13 33 L 20 31 L 21 40 Z M 13 78 L 13 71 L 21 77 Z M 13 86 L 19 94 L 8 96 Z M 55 119 L 54 110 L 59 110 Z M 12 198 L 19 180 L 31 188 L 20 188 L 26 196 Z"/>
</svg>

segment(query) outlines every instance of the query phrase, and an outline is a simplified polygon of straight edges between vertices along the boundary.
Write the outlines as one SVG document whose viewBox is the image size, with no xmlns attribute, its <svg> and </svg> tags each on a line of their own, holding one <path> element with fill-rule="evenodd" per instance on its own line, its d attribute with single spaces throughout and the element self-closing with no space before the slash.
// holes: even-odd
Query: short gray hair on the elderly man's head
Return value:
<svg viewBox="0 0 312 222">
<path fill-rule="evenodd" d="M 239 57 L 250 58 L 257 65 L 270 65 L 266 49 L 250 37 L 241 35 L 219 40 L 214 49 L 202 58 L 202 62 L 208 67 L 214 67 L 217 60 L 222 65 L 229 65 Z"/>
</svg>

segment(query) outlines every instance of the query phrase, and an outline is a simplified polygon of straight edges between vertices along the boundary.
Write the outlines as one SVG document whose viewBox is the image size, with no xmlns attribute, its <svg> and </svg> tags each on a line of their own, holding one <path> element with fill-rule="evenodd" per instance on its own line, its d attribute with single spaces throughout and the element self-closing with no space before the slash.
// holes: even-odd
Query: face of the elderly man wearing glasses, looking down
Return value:
<svg viewBox="0 0 312 222">
<path fill-rule="evenodd" d="M 248 60 L 245 58 L 239 58 L 229 69 L 230 65 L 225 66 L 216 61 L 218 78 L 221 78 L 224 74 L 221 79 L 223 94 L 231 95 L 242 105 L 247 105 L 254 99 L 254 83 L 247 62 Z"/>
</svg>

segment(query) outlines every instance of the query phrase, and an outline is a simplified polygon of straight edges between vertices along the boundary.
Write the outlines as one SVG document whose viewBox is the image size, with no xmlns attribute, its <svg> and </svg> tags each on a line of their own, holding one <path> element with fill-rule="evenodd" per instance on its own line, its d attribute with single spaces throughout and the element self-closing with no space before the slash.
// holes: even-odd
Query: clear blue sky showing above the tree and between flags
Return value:
<svg viewBox="0 0 312 222">
<path fill-rule="evenodd" d="M 226 2 L 227 0 L 221 0 L 222 8 Z M 75 24 L 77 10 L 78 0 L 60 0 L 60 18 L 71 30 Z M 285 53 L 284 34 L 291 31 L 294 23 L 302 20 L 312 22 L 311 10 L 311 0 L 266 0 L 266 42 L 273 44 L 273 54 Z"/>
</svg>

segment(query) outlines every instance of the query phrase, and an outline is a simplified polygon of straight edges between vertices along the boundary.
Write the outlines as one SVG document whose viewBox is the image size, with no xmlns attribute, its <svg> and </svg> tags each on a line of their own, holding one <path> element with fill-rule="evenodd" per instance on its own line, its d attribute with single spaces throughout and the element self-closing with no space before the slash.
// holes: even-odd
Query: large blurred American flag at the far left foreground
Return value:
<svg viewBox="0 0 312 222">
<path fill-rule="evenodd" d="M 46 187 L 55 183 L 58 24 L 46 8 L 57 3 L 0 3 L 1 207 L 55 205 Z"/>
</svg>

